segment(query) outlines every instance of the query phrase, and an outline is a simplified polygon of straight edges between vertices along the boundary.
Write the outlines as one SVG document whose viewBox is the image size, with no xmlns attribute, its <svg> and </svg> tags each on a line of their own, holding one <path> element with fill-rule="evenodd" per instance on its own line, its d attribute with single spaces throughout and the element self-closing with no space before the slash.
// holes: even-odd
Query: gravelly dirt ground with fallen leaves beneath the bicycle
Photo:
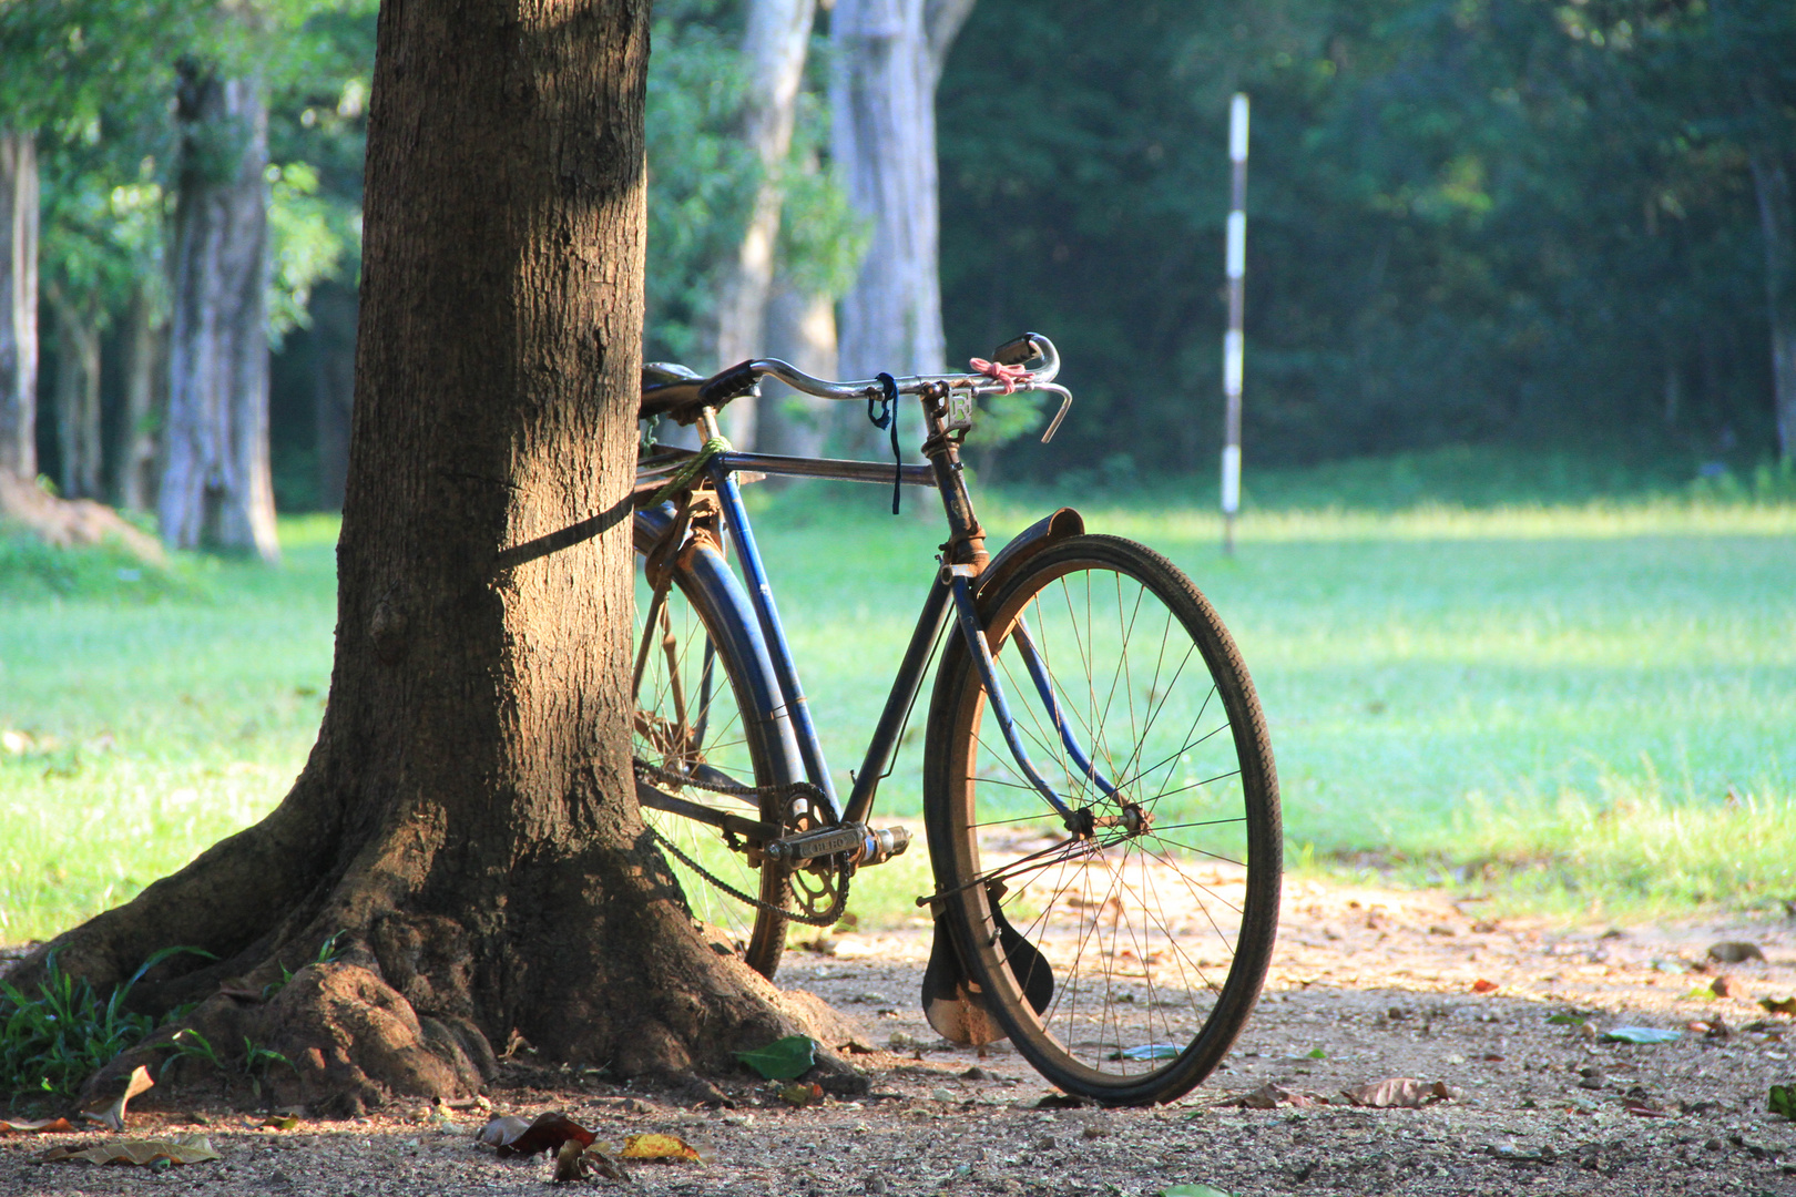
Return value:
<svg viewBox="0 0 1796 1197">
<path fill-rule="evenodd" d="M 1721 964 L 1708 948 L 1756 944 Z M 1006 1044 L 979 1059 L 929 1030 L 923 928 L 839 935 L 794 951 L 779 980 L 857 1016 L 891 1050 L 855 1057 L 871 1091 L 792 1109 L 744 1075 L 735 1109 L 688 1109 L 596 1071 L 512 1066 L 487 1100 L 526 1118 L 560 1109 L 598 1132 L 672 1132 L 702 1163 L 638 1163 L 638 1193 L 1158 1195 L 1744 1193 L 1796 1197 L 1796 1123 L 1767 1113 L 1796 1082 L 1796 921 L 1584 926 L 1491 922 L 1439 892 L 1290 883 L 1277 964 L 1228 1062 L 1176 1105 L 1042 1107 L 1052 1095 Z M 1713 991 L 1726 978 L 1726 996 Z M 1550 1023 L 1564 1012 L 1589 1025 Z M 1613 1027 L 1676 1043 L 1607 1043 Z M 1697 1027 L 1699 1025 L 1699 1027 Z M 1719 1027 L 1728 1030 L 1722 1034 Z M 1717 1028 L 1708 1034 L 1708 1028 Z M 1320 1053 L 1320 1057 L 1318 1057 Z M 1342 1089 L 1387 1077 L 1458 1093 L 1424 1109 L 1358 1109 Z M 1263 1086 L 1329 1104 L 1237 1102 Z M 219 1161 L 163 1172 L 36 1163 L 101 1136 L 0 1136 L 0 1193 L 544 1193 L 551 1161 L 474 1143 L 481 1107 L 399 1102 L 374 1118 L 264 1129 L 226 1109 L 131 1114 L 133 1136 L 207 1134 Z"/>
</svg>

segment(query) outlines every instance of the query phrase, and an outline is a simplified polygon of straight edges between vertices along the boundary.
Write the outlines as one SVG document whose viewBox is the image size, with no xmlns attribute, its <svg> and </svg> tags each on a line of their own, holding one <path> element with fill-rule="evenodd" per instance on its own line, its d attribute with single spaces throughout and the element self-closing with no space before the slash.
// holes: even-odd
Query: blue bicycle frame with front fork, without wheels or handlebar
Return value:
<svg viewBox="0 0 1796 1197">
<path fill-rule="evenodd" d="M 923 413 L 930 432 L 923 445 L 923 452 L 929 456 L 930 463 L 896 467 L 896 481 L 911 486 L 934 486 L 939 492 L 950 526 L 948 553 L 941 560 L 941 567 L 936 571 L 929 592 L 923 598 L 916 628 L 911 633 L 911 642 L 905 648 L 903 659 L 898 664 L 898 673 L 893 678 L 891 691 L 885 696 L 885 707 L 880 712 L 880 720 L 875 725 L 871 739 L 867 741 L 860 770 L 851 773 L 853 790 L 848 797 L 846 809 L 839 806 L 837 790 L 833 779 L 830 777 L 828 763 L 824 761 L 810 703 L 797 677 L 797 664 L 792 659 L 792 650 L 779 621 L 779 608 L 774 601 L 772 583 L 767 578 L 767 567 L 762 562 L 760 547 L 754 542 L 753 524 L 749 522 L 747 510 L 742 504 L 742 490 L 736 474 L 753 470 L 788 477 L 887 483 L 894 477 L 894 467 L 876 461 L 781 458 L 772 454 L 733 450 L 720 452 L 706 463 L 706 470 L 717 486 L 724 522 L 727 524 L 729 535 L 736 544 L 742 571 L 749 583 L 749 603 L 758 623 L 758 628 L 751 632 L 760 633 L 762 648 L 767 651 L 772 664 L 774 678 L 779 686 L 787 716 L 797 739 L 799 759 L 805 766 L 808 781 L 828 797 L 832 808 L 830 815 L 837 817 L 837 826 L 864 826 L 873 813 L 878 784 L 889 772 L 893 754 L 898 747 L 898 738 L 909 720 L 911 709 L 923 684 L 923 675 L 934 657 L 936 641 L 939 639 L 952 608 L 957 630 L 977 666 L 991 714 L 999 721 L 1006 747 L 1009 748 L 1018 770 L 1042 795 L 1042 799 L 1061 815 L 1069 831 L 1090 836 L 1092 827 L 1087 826 L 1090 817 L 1085 815 L 1081 818 L 1081 813 L 1054 791 L 1054 788 L 1029 759 L 1018 734 L 1017 720 L 1009 709 L 1009 700 L 997 677 L 997 666 L 991 659 L 991 648 L 986 641 L 984 625 L 977 607 L 975 583 L 981 571 L 991 560 L 984 549 L 984 529 L 973 517 L 972 499 L 966 494 L 957 441 L 943 429 L 943 409 L 932 404 L 930 397 L 925 395 Z M 708 436 L 717 434 L 715 415 L 709 409 L 700 424 L 706 425 L 704 431 Z M 1033 639 L 1029 637 L 1027 626 L 1022 621 L 1018 621 L 1013 630 L 1011 644 L 1022 657 L 1034 691 L 1054 723 L 1069 759 L 1092 781 L 1094 786 L 1097 786 L 1097 790 L 1105 795 L 1114 795 L 1115 786 L 1112 786 L 1110 781 L 1094 768 L 1090 757 L 1078 743 L 1072 727 L 1063 718 L 1060 702 L 1054 696 L 1052 684 L 1049 680 L 1049 671 L 1042 662 Z"/>
</svg>

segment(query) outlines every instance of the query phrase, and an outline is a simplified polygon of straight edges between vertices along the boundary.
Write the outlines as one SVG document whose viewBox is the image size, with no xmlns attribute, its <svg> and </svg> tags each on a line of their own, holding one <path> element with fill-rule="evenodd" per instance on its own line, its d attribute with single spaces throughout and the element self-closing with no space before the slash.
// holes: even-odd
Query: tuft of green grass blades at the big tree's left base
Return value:
<svg viewBox="0 0 1796 1197">
<path fill-rule="evenodd" d="M 57 967 L 52 953 L 36 994 L 0 982 L 0 1093 L 13 1104 L 32 1097 L 70 1098 L 115 1055 L 156 1028 L 147 1014 L 124 1009 L 131 989 L 163 960 L 198 948 L 163 948 L 101 1001 L 93 987 Z"/>
</svg>

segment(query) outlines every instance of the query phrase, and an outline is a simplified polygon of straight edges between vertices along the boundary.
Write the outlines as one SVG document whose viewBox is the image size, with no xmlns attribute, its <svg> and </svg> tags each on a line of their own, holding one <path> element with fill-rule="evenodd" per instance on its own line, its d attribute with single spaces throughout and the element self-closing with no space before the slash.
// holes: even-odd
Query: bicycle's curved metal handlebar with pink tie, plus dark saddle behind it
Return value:
<svg viewBox="0 0 1796 1197">
<path fill-rule="evenodd" d="M 1042 434 L 1042 441 L 1045 443 L 1054 436 L 1054 431 L 1067 415 L 1067 407 L 1072 406 L 1072 393 L 1054 382 L 1054 377 L 1060 373 L 1060 350 L 1056 350 L 1054 343 L 1042 334 L 1027 332 L 1004 345 L 999 354 L 1000 357 L 1017 357 L 1024 348 L 1033 348 L 1034 354 L 1027 357 L 1027 361 L 1017 363 L 1027 370 L 1027 377 L 1015 382 L 1006 384 L 1004 380 L 984 373 L 920 373 L 896 379 L 898 393 L 920 395 L 927 388 L 934 388 L 943 382 L 950 388 L 968 389 L 973 397 L 1009 395 L 1015 391 L 1051 391 L 1061 397 L 1061 404 L 1060 413 L 1047 425 L 1047 432 Z M 885 393 L 885 386 L 878 379 L 832 382 L 828 379 L 815 379 L 797 366 L 779 361 L 778 357 L 760 357 L 738 363 L 729 370 L 711 375 L 709 379 L 700 379 L 697 375 L 681 377 L 672 370 L 659 370 L 656 371 L 654 382 L 648 382 L 645 377 L 639 416 L 650 418 L 670 415 L 681 424 L 691 424 L 699 418 L 699 411 L 702 407 L 722 407 L 729 400 L 754 391 L 762 379 L 778 379 L 794 391 L 839 402 L 878 398 Z"/>
</svg>

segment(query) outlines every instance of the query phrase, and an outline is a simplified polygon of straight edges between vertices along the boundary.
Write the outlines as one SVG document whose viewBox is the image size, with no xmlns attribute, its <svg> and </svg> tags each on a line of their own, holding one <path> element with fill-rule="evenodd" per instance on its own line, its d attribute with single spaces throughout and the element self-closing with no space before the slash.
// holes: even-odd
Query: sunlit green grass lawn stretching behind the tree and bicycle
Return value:
<svg viewBox="0 0 1796 1197">
<path fill-rule="evenodd" d="M 941 540 L 927 495 L 900 519 L 887 497 L 794 488 L 756 524 L 844 788 Z M 1796 504 L 1299 506 L 1243 519 L 1227 558 L 1207 499 L 981 511 L 1002 538 L 1076 502 L 1191 572 L 1259 684 L 1295 867 L 1604 913 L 1796 899 Z M 278 571 L 74 594 L 0 556 L 0 942 L 129 897 L 286 791 L 329 680 L 334 526 L 282 535 Z M 912 827 L 920 741 L 880 795 Z M 923 869 L 869 870 L 857 906 L 900 915 Z"/>
</svg>

